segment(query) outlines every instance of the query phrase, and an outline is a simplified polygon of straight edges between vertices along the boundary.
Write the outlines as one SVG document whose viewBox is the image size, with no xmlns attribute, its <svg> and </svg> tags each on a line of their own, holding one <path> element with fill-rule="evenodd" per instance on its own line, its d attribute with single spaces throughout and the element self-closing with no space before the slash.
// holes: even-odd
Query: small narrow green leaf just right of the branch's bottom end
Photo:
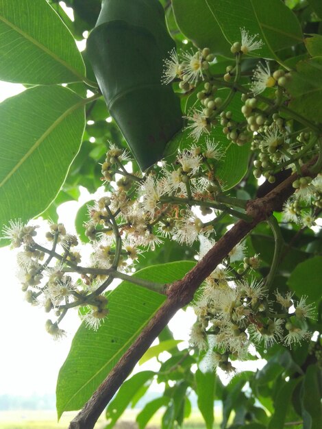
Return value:
<svg viewBox="0 0 322 429">
<path fill-rule="evenodd" d="M 136 391 L 140 389 L 148 380 L 153 378 L 153 371 L 142 371 L 134 374 L 129 380 L 125 381 L 114 399 L 108 404 L 106 410 L 107 426 L 106 429 L 114 427 L 116 421 L 124 413 L 125 409 L 131 402 L 132 397 L 136 394 Z"/>
</svg>

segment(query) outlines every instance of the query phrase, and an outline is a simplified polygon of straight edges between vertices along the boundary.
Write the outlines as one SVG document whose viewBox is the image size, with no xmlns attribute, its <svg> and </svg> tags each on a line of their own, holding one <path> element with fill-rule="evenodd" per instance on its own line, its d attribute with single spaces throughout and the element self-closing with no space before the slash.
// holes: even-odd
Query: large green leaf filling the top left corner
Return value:
<svg viewBox="0 0 322 429">
<path fill-rule="evenodd" d="M 0 0 L 0 79 L 61 84 L 84 79 L 75 40 L 45 0 Z"/>
</svg>

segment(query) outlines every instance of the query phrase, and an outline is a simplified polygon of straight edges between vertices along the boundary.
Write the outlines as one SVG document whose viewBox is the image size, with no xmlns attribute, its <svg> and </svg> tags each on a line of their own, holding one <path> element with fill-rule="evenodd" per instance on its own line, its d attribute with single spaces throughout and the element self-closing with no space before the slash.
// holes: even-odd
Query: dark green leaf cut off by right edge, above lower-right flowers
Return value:
<svg viewBox="0 0 322 429">
<path fill-rule="evenodd" d="M 310 302 L 321 299 L 322 256 L 314 256 L 297 265 L 288 279 L 288 286 L 298 297 L 308 295 Z"/>
</svg>

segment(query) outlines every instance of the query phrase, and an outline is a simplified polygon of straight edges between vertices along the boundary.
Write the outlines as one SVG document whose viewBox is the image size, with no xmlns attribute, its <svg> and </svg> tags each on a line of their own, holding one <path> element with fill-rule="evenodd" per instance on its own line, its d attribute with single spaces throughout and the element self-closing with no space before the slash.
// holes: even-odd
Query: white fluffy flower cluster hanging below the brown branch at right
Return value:
<svg viewBox="0 0 322 429">
<path fill-rule="evenodd" d="M 201 256 L 212 243 L 203 238 Z M 231 359 L 247 359 L 253 343 L 270 347 L 282 343 L 288 347 L 312 334 L 306 326 L 307 318 L 314 318 L 312 304 L 307 298 L 299 301 L 291 293 L 278 291 L 275 302 L 268 297 L 262 280 L 236 280 L 227 265 L 217 267 L 203 284 L 194 309 L 197 322 L 190 333 L 190 343 L 206 350 L 205 363 L 214 369 L 232 371 Z"/>
</svg>

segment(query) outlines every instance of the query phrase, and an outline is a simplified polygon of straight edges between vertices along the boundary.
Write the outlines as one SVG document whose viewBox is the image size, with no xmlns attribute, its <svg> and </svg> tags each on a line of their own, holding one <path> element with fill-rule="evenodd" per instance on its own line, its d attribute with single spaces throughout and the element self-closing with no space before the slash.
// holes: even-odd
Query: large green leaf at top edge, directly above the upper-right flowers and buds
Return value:
<svg viewBox="0 0 322 429">
<path fill-rule="evenodd" d="M 264 42 L 261 49 L 251 54 L 278 60 L 276 51 L 303 41 L 299 21 L 281 0 L 173 0 L 173 5 L 180 29 L 183 25 L 183 33 L 186 30 L 186 19 L 181 21 L 178 16 L 183 16 L 187 9 L 188 16 L 193 14 L 194 24 L 190 27 L 189 36 L 202 43 L 206 41 L 207 34 L 210 40 L 219 27 L 232 45 L 240 40 L 240 28 L 245 27 L 249 34 L 258 34 Z M 208 17 L 205 20 L 206 14 Z"/>
</svg>

